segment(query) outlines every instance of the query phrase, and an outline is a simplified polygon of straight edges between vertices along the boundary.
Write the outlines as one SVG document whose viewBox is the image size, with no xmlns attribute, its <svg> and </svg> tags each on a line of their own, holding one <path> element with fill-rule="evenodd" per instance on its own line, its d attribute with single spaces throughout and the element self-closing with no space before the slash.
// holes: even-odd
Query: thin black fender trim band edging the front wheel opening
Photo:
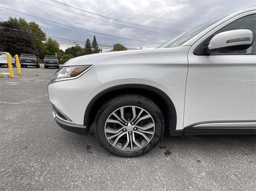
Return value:
<svg viewBox="0 0 256 191">
<path fill-rule="evenodd" d="M 112 91 L 116 91 L 116 90 L 122 90 L 122 89 L 142 89 L 142 90 L 148 90 L 148 91 L 152 91 L 155 94 L 159 95 L 161 98 L 163 98 L 163 100 L 165 101 L 166 105 L 168 106 L 169 109 L 169 113 L 171 114 L 171 122 L 170 122 L 170 129 L 175 130 L 176 129 L 176 123 L 177 123 L 177 116 L 176 116 L 176 109 L 174 107 L 174 104 L 172 102 L 172 100 L 170 99 L 170 97 L 164 93 L 164 91 L 150 86 L 150 85 L 144 85 L 144 84 L 124 84 L 124 85 L 117 85 L 114 87 L 110 87 L 107 88 L 103 91 L 101 91 L 100 93 L 98 93 L 96 96 L 94 96 L 94 98 L 92 98 L 92 100 L 89 102 L 88 106 L 86 107 L 85 113 L 84 113 L 84 125 L 85 126 L 90 126 L 89 124 L 89 119 L 90 119 L 90 112 L 92 111 L 92 108 L 94 107 L 94 104 L 97 102 L 97 100 L 107 94 L 110 93 Z M 169 128 L 169 127 L 168 127 Z"/>
</svg>

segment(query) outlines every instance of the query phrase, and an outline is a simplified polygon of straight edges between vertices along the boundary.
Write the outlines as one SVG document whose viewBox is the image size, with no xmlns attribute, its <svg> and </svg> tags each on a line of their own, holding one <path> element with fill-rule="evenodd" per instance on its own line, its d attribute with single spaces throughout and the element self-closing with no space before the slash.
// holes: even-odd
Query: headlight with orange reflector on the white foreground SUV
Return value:
<svg viewBox="0 0 256 191">
<path fill-rule="evenodd" d="M 78 78 L 91 68 L 92 65 L 62 67 L 56 71 L 50 83 Z"/>
</svg>

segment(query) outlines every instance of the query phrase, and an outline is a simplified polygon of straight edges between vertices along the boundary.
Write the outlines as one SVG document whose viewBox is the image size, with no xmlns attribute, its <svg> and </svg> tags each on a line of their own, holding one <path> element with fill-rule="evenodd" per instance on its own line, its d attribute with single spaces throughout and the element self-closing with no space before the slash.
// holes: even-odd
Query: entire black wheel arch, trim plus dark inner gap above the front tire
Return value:
<svg viewBox="0 0 256 191">
<path fill-rule="evenodd" d="M 84 113 L 84 125 L 88 127 L 88 131 L 102 104 L 114 95 L 123 93 L 137 93 L 152 99 L 162 111 L 166 130 L 168 130 L 168 132 L 170 132 L 170 130 L 176 130 L 176 109 L 172 100 L 164 91 L 150 85 L 125 84 L 107 88 L 92 98 Z"/>
</svg>

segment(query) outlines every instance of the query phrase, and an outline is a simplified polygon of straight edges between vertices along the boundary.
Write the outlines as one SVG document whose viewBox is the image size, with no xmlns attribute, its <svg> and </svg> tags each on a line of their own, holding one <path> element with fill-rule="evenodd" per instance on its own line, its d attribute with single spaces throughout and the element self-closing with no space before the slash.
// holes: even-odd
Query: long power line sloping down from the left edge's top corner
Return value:
<svg viewBox="0 0 256 191">
<path fill-rule="evenodd" d="M 0 6 L 0 7 L 2 7 L 2 6 Z M 47 19 L 43 19 L 43 18 L 40 18 L 40 17 L 37 17 L 37 16 L 33 16 L 33 15 L 30 15 L 30 14 L 26 14 L 26 13 L 23 13 L 23 12 L 20 12 L 20 11 L 17 11 L 17 10 L 13 10 L 13 9 L 10 9 L 10 8 L 6 8 L 6 7 L 2 7 L 2 8 L 7 9 L 7 10 L 11 10 L 11 11 L 14 11 L 14 12 L 18 12 L 20 14 L 28 15 L 28 16 L 31 16 L 31 17 L 34 17 L 34 18 L 38 18 L 38 19 L 41 19 L 41 20 L 45 20 L 45 21 L 48 21 L 48 22 L 52 22 L 54 24 L 58 24 L 58 25 L 62 25 L 62 26 L 70 27 L 70 28 L 74 28 L 74 29 L 77 29 L 77 30 L 82 30 L 82 31 L 86 31 L 86 32 L 96 33 L 96 34 L 110 36 L 110 37 L 115 37 L 115 38 L 120 38 L 120 39 L 132 40 L 132 41 L 140 41 L 140 42 L 147 42 L 147 43 L 162 44 L 162 43 L 159 43 L 159 42 L 130 39 L 130 38 L 118 37 L 118 36 L 114 36 L 114 35 L 108 35 L 108 34 L 104 34 L 104 33 L 98 33 L 98 32 L 94 32 L 94 31 L 89 31 L 89 30 L 85 30 L 85 29 L 82 29 L 82 28 L 77 28 L 77 27 L 61 24 L 61 23 L 58 23 L 58 22 L 50 21 L 50 20 L 47 20 Z"/>
</svg>

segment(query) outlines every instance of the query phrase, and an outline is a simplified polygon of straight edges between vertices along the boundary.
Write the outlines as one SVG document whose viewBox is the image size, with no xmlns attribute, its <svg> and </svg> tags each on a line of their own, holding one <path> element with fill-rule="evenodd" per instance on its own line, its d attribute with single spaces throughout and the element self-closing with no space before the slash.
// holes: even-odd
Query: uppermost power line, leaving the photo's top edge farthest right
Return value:
<svg viewBox="0 0 256 191">
<path fill-rule="evenodd" d="M 77 7 L 74 7 L 74 6 L 70 6 L 70 5 L 68 5 L 68 4 L 64 4 L 64 3 L 62 3 L 62 2 L 58 2 L 58 1 L 56 1 L 56 0 L 50 0 L 50 1 L 53 1 L 53 2 L 56 2 L 56 3 L 62 4 L 62 5 L 65 5 L 65 6 L 69 6 L 69 7 L 72 7 L 72 8 L 75 8 L 75 9 L 78 9 L 78 10 L 81 10 L 81 11 L 84 11 L 84 12 L 87 12 L 87 13 L 90 13 L 90 14 L 94 14 L 94 15 L 97 15 L 97 16 L 100 16 L 100 17 L 108 18 L 108 19 L 111 19 L 111 20 L 115 20 L 115 21 L 118 21 L 118 22 L 130 24 L 130 25 L 135 25 L 135 26 L 140 26 L 140 27 L 150 28 L 150 29 L 154 29 L 154 28 L 155 28 L 156 30 L 157 30 L 157 29 L 162 29 L 162 30 L 169 30 L 169 31 L 184 32 L 184 31 L 181 31 L 181 30 L 164 29 L 164 28 L 157 28 L 157 27 L 152 27 L 152 26 L 146 26 L 146 25 L 142 25 L 142 24 L 136 24 L 136 23 L 132 23 L 132 22 L 124 21 L 124 20 L 119 20 L 119 19 L 107 17 L 107 16 L 100 15 L 100 14 L 96 14 L 96 13 L 89 12 L 89 11 L 86 11 L 86 10 L 82 10 L 82 9 L 80 9 L 80 8 L 77 8 Z"/>
</svg>

